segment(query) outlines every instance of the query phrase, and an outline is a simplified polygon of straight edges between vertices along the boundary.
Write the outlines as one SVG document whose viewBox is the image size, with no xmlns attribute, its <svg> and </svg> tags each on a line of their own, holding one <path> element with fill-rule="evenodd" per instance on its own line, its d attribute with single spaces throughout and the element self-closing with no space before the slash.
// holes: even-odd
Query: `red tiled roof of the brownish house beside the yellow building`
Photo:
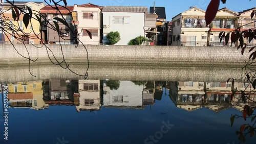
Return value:
<svg viewBox="0 0 256 144">
<path fill-rule="evenodd" d="M 55 8 L 55 6 L 45 6 L 44 8 L 40 9 L 40 13 L 56 13 L 57 10 L 54 9 L 54 8 Z M 62 14 L 68 14 L 71 11 L 73 11 L 74 6 L 67 6 L 66 8 L 65 7 L 58 7 L 58 9 L 60 10 L 60 12 Z"/>
</svg>

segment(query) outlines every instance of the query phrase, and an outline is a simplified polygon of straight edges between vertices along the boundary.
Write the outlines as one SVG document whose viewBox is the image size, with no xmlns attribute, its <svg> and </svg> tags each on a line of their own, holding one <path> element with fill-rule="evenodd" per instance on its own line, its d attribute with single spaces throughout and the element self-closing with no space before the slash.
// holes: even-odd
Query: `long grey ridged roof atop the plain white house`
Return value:
<svg viewBox="0 0 256 144">
<path fill-rule="evenodd" d="M 118 6 L 106 6 L 102 12 L 142 12 L 148 13 L 147 7 L 118 7 Z"/>
</svg>

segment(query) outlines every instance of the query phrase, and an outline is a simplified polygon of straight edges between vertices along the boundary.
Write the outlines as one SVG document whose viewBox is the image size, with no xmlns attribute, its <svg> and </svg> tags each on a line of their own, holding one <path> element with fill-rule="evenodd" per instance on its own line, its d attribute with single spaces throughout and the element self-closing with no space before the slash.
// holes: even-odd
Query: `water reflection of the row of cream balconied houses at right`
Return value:
<svg viewBox="0 0 256 144">
<path fill-rule="evenodd" d="M 244 83 L 234 83 L 234 87 L 238 90 L 245 90 L 248 84 Z M 212 82 L 178 82 L 178 94 L 171 95 L 170 98 L 174 101 L 177 107 L 186 109 L 188 111 L 196 110 L 201 107 L 208 108 L 219 112 L 225 110 L 231 105 L 230 95 L 231 92 L 231 82 L 230 83 L 212 83 Z M 175 89 L 175 88 L 173 88 Z M 249 89 L 249 88 L 248 88 Z M 235 94 L 233 101 L 239 103 L 242 107 L 245 105 L 240 100 L 241 94 Z M 247 105 L 256 105 L 252 101 L 255 100 L 254 95 L 250 96 L 251 100 L 247 100 Z M 234 104 L 234 103 L 232 103 Z M 238 106 L 233 106 L 234 108 L 242 108 Z"/>
</svg>

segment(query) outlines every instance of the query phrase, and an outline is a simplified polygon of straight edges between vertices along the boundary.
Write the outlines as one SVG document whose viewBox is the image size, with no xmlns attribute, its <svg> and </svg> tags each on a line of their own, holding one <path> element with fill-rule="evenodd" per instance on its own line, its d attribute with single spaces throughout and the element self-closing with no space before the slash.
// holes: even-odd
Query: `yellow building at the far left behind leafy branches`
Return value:
<svg viewBox="0 0 256 144">
<path fill-rule="evenodd" d="M 18 37 L 18 35 L 20 35 L 20 37 L 23 38 L 23 40 L 27 41 L 26 43 L 39 44 L 40 39 L 41 39 L 41 35 L 40 35 L 40 32 L 39 32 L 40 24 L 37 21 L 35 15 L 33 15 L 34 18 L 32 18 L 31 22 L 29 22 L 28 28 L 26 28 L 25 25 L 24 25 L 24 22 L 23 22 L 24 14 L 21 14 L 19 16 L 19 20 L 17 20 L 17 19 L 14 20 L 12 18 L 12 10 L 10 9 L 11 5 L 8 2 L 5 2 L 5 3 L 2 4 L 2 6 L 3 6 L 3 9 L 5 11 L 1 15 L 2 19 L 5 19 L 4 17 L 9 17 L 9 20 L 5 20 L 5 21 L 9 23 L 9 26 L 10 26 L 9 29 L 13 29 L 14 31 L 17 32 L 17 34 L 15 34 L 15 36 Z M 16 2 L 15 1 L 15 6 L 24 8 L 23 10 L 25 12 L 28 12 L 27 7 L 29 7 L 33 10 L 33 13 L 39 14 L 38 12 L 40 11 L 40 9 L 42 7 L 45 7 L 45 3 L 44 2 Z M 18 32 L 20 30 L 22 32 Z M 8 32 L 10 33 L 11 31 L 7 31 L 7 33 L 3 33 L 4 34 L 4 40 L 3 41 L 5 41 L 5 43 L 10 43 L 10 41 L 12 43 L 21 43 L 20 41 L 15 39 L 15 37 L 12 36 L 11 34 L 9 34 Z"/>
</svg>

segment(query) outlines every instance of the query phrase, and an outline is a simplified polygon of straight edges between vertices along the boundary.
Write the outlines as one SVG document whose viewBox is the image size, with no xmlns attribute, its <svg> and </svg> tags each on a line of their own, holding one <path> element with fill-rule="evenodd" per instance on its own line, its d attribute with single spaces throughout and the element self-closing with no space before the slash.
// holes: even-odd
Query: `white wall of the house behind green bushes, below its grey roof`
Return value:
<svg viewBox="0 0 256 144">
<path fill-rule="evenodd" d="M 103 13 L 103 42 L 108 42 L 106 35 L 111 31 L 118 31 L 121 40 L 116 45 L 127 45 L 131 39 L 137 36 L 144 36 L 144 13 L 132 12 L 102 12 Z M 124 20 L 115 22 L 115 18 Z M 104 28 L 106 25 L 106 28 Z"/>
</svg>

